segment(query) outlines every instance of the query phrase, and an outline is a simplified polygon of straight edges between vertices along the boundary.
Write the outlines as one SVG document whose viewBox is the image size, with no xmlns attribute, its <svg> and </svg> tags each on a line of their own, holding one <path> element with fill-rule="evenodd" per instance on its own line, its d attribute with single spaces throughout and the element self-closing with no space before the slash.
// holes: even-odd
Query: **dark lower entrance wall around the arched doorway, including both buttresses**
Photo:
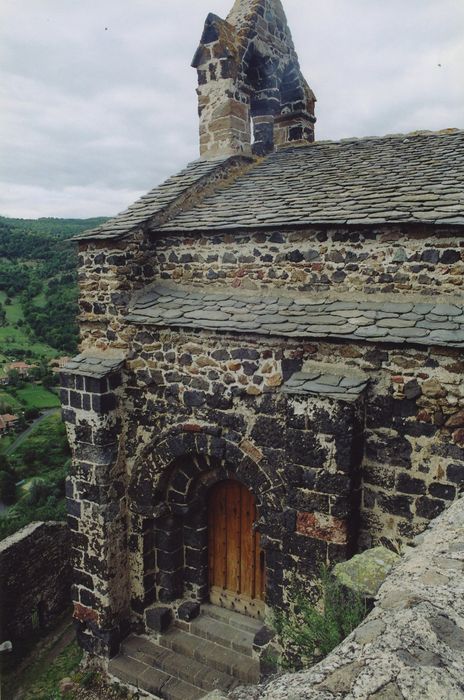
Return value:
<svg viewBox="0 0 464 700">
<path fill-rule="evenodd" d="M 74 446 L 74 616 L 92 651 L 117 644 L 128 596 L 143 616 L 155 601 L 207 595 L 206 550 L 195 534 L 204 530 L 204 479 L 236 476 L 256 494 L 270 605 L 282 604 L 290 578 L 314 576 L 354 549 L 362 396 L 351 404 L 322 398 L 306 416 L 277 392 L 282 358 L 235 345 L 206 350 L 193 339 L 139 331 L 123 386 L 116 374 L 81 376 L 95 372 L 91 359 L 63 376 Z M 283 365 L 286 374 L 296 368 Z M 240 377 L 257 383 L 246 387 Z M 111 402 L 110 385 L 118 395 Z"/>
</svg>

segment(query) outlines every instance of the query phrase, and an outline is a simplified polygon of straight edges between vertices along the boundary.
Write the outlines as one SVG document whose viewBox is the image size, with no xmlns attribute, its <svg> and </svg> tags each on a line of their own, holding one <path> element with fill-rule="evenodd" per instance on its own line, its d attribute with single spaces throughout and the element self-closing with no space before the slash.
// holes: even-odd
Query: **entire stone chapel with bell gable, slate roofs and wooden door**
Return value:
<svg viewBox="0 0 464 700">
<path fill-rule="evenodd" d="M 62 374 L 78 639 L 166 698 L 257 680 L 289 586 L 464 485 L 464 131 L 315 140 L 280 0 L 193 66 L 200 158 L 77 237 Z"/>
</svg>

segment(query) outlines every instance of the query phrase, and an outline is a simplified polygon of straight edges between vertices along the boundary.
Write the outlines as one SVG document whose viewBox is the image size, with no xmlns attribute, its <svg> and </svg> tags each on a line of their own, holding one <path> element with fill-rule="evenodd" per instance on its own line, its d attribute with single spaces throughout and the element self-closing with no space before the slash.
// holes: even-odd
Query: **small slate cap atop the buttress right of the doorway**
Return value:
<svg viewBox="0 0 464 700">
<path fill-rule="evenodd" d="M 369 378 L 352 374 L 333 374 L 318 369 L 295 372 L 282 387 L 284 394 L 327 396 L 331 399 L 355 401 L 369 383 Z"/>
</svg>

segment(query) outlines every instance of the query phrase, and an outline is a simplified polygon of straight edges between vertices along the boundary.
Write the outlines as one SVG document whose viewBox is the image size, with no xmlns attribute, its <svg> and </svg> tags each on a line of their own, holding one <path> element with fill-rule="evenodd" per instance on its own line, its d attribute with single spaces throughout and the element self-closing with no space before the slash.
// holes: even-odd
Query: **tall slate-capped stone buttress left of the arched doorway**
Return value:
<svg viewBox="0 0 464 700">
<path fill-rule="evenodd" d="M 80 645 L 99 656 L 117 653 L 130 618 L 121 369 L 121 360 L 80 355 L 61 375 L 63 419 L 73 450 L 67 511 L 74 620 Z"/>
</svg>

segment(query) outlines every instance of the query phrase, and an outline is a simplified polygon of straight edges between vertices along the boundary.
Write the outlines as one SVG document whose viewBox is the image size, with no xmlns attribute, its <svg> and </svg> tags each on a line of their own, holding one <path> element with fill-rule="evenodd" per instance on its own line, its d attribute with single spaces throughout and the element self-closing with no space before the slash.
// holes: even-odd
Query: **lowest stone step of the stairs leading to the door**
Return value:
<svg viewBox="0 0 464 700">
<path fill-rule="evenodd" d="M 203 689 L 127 656 L 111 659 L 108 671 L 123 683 L 163 700 L 200 700 L 205 696 Z"/>
</svg>

